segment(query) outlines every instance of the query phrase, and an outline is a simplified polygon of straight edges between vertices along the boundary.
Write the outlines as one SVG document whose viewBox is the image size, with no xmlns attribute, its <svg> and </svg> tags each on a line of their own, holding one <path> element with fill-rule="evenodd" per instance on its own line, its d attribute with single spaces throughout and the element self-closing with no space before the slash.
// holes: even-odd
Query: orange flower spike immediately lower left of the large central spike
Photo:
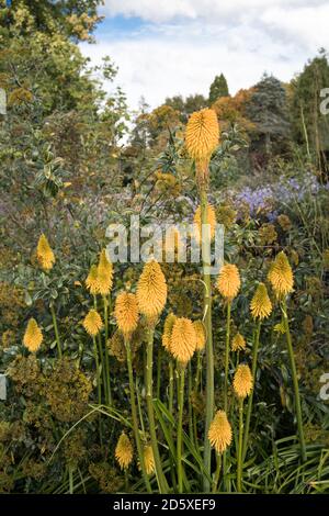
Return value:
<svg viewBox="0 0 329 516">
<path fill-rule="evenodd" d="M 128 337 L 138 324 L 138 303 L 135 294 L 121 292 L 115 302 L 114 316 L 118 329 Z"/>
</svg>

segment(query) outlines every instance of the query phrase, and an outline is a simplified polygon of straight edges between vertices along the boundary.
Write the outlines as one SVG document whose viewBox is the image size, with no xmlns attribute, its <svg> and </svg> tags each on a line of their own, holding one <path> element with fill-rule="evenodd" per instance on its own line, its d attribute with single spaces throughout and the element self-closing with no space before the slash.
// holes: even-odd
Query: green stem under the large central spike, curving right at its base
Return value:
<svg viewBox="0 0 329 516">
<path fill-rule="evenodd" d="M 146 402 L 147 402 L 147 415 L 149 423 L 149 434 L 150 441 L 155 457 L 156 465 L 156 475 L 158 480 L 159 491 L 161 494 L 168 493 L 167 480 L 162 471 L 161 458 L 158 448 L 157 433 L 156 433 L 156 422 L 155 422 L 155 412 L 154 412 L 154 401 L 152 401 L 152 362 L 154 362 L 154 336 L 155 329 L 148 329 L 148 341 L 146 350 Z"/>
</svg>

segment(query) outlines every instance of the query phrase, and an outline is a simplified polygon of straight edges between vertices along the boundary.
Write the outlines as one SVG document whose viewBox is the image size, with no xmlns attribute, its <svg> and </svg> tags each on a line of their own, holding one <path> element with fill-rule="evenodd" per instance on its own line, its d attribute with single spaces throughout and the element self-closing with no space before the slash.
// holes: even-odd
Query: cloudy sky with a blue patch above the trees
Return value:
<svg viewBox="0 0 329 516">
<path fill-rule="evenodd" d="M 229 90 L 264 71 L 290 80 L 320 47 L 329 49 L 328 0 L 105 0 L 97 44 L 81 44 L 98 64 L 110 55 L 132 109 L 173 94 L 207 96 L 224 72 Z M 328 85 L 329 86 L 329 85 Z"/>
</svg>

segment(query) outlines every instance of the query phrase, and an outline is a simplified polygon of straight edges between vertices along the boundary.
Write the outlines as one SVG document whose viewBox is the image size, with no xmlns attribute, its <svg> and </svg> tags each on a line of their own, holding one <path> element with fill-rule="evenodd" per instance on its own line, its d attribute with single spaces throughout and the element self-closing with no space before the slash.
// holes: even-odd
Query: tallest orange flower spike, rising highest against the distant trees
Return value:
<svg viewBox="0 0 329 516">
<path fill-rule="evenodd" d="M 216 112 L 204 109 L 192 113 L 185 131 L 185 145 L 190 157 L 198 164 L 207 162 L 218 143 L 219 125 Z"/>
</svg>

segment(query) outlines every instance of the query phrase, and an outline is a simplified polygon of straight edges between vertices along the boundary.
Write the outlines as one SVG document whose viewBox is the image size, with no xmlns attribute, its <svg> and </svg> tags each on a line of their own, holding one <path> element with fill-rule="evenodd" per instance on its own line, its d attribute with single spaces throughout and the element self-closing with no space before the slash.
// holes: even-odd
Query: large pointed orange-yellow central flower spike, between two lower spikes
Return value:
<svg viewBox="0 0 329 516">
<path fill-rule="evenodd" d="M 137 284 L 139 312 L 148 318 L 156 318 L 164 309 L 167 283 L 159 263 L 155 260 L 145 263 Z"/>
</svg>

